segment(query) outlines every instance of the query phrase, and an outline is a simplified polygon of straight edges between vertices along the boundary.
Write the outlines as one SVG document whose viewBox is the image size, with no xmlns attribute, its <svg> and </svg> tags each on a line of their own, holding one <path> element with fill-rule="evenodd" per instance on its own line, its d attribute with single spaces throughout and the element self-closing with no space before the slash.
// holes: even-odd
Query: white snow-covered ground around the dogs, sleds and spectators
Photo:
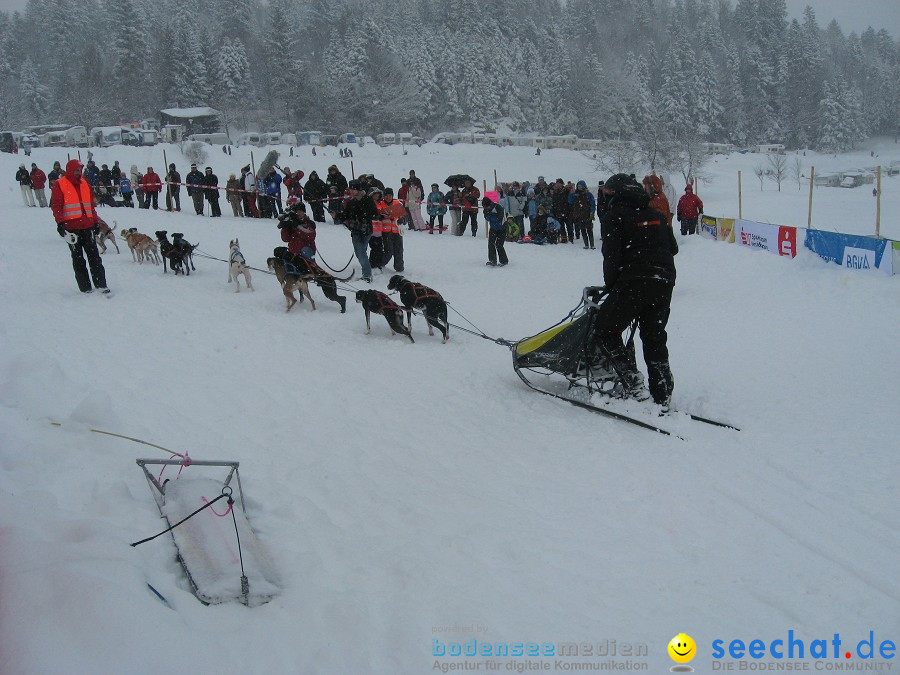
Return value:
<svg viewBox="0 0 900 675">
<path fill-rule="evenodd" d="M 870 150 L 900 159 L 882 143 L 804 161 L 817 173 L 866 166 Z M 189 162 L 167 153 L 184 175 Z M 349 177 L 336 155 L 281 163 L 324 175 L 334 162 Z M 47 170 L 65 152 L 31 159 Z M 96 159 L 164 166 L 161 147 Z M 20 161 L 31 160 L 0 155 L 0 672 L 425 673 L 466 661 L 436 656 L 433 640 L 439 652 L 472 638 L 591 643 L 595 655 L 615 640 L 618 662 L 664 672 L 681 632 L 697 642 L 691 665 L 710 672 L 716 639 L 900 640 L 900 278 L 805 249 L 791 261 L 680 238 L 675 404 L 742 431 L 675 420 L 686 440 L 663 438 L 531 392 L 489 341 L 451 329 L 443 345 L 418 319 L 413 345 L 380 317 L 367 336 L 358 305 L 341 315 L 319 289 L 315 312 L 285 314 L 273 278 L 255 272 L 256 292 L 235 294 L 213 260 L 176 278 L 120 243 L 104 256 L 115 296 L 82 296 L 50 212 L 22 206 Z M 247 161 L 216 151 L 209 164 L 224 182 Z M 762 161 L 711 162 L 706 212 L 737 215 L 740 169 L 745 218 L 805 225 L 806 186 L 760 192 Z M 460 172 L 490 184 L 494 169 L 606 177 L 567 151 L 367 147 L 353 162 L 395 188 L 411 168 L 426 186 Z M 871 188 L 819 188 L 815 200 L 817 227 L 874 233 Z M 102 214 L 184 232 L 220 258 L 238 236 L 259 268 L 280 244 L 274 221 L 183 205 Z M 885 236 L 900 238 L 898 212 L 900 178 L 886 178 Z M 333 266 L 351 254 L 342 227 L 321 226 L 318 242 Z M 481 236 L 408 233 L 405 248 L 405 276 L 441 291 L 453 323 L 492 337 L 555 323 L 601 281 L 599 250 L 580 245 L 509 244 L 503 269 L 484 266 Z M 164 527 L 134 460 L 168 454 L 90 428 L 240 461 L 281 594 L 204 606 L 168 535 L 129 547 Z M 625 645 L 648 653 L 623 656 Z"/>
</svg>

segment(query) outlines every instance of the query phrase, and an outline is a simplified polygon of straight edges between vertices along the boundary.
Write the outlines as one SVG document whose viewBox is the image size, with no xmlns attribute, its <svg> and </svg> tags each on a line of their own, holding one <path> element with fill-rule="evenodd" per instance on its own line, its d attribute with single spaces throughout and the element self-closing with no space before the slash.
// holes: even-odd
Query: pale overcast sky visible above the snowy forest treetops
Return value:
<svg viewBox="0 0 900 675">
<path fill-rule="evenodd" d="M 803 8 L 810 5 L 823 28 L 837 19 L 845 34 L 861 33 L 867 27 L 885 28 L 893 37 L 900 37 L 900 0 L 786 0 L 788 15 L 798 19 Z M 734 4 L 735 0 L 732 0 Z M 12 11 L 25 7 L 26 0 L 0 0 L 0 10 Z"/>
</svg>

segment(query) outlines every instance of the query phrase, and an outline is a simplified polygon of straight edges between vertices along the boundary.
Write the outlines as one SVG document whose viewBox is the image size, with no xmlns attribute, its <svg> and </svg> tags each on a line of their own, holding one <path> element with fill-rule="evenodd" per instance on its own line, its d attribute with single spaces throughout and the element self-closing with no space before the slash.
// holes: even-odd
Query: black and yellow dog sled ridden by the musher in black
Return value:
<svg viewBox="0 0 900 675">
<path fill-rule="evenodd" d="M 537 392 L 671 436 L 671 431 L 659 426 L 657 406 L 633 400 L 629 387 L 593 339 L 599 317 L 596 310 L 606 295 L 605 288 L 588 286 L 582 292 L 579 305 L 562 321 L 513 343 L 513 368 L 519 378 Z M 632 325 L 629 350 L 633 349 L 634 331 L 635 325 Z M 698 422 L 738 430 L 725 422 L 685 414 Z"/>
</svg>

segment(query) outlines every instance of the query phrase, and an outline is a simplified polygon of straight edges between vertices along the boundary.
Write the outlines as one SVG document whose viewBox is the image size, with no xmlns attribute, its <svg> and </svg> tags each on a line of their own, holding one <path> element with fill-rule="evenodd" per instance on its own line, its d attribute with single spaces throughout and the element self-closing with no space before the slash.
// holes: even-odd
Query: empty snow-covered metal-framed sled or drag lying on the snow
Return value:
<svg viewBox="0 0 900 675">
<path fill-rule="evenodd" d="M 277 571 L 244 511 L 237 462 L 139 459 L 137 463 L 144 471 L 160 514 L 169 527 L 175 526 L 170 534 L 178 561 L 201 602 L 215 605 L 236 600 L 256 607 L 279 594 Z M 230 472 L 222 481 L 186 476 L 179 471 L 177 478 L 160 482 L 163 472 L 155 477 L 148 469 L 159 466 L 164 470 L 167 465 L 192 469 L 223 467 L 230 468 Z M 192 470 L 192 474 L 196 473 Z M 233 503 L 220 499 L 207 506 L 223 494 L 223 489 L 230 493 L 235 477 L 237 494 Z M 197 512 L 198 509 L 202 510 Z"/>
</svg>

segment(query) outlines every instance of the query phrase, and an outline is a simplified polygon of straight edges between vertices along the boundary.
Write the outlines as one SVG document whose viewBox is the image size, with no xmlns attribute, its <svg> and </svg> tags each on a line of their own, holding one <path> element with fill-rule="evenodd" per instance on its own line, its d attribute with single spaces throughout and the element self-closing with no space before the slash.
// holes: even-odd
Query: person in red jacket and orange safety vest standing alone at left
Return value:
<svg viewBox="0 0 900 675">
<path fill-rule="evenodd" d="M 94 288 L 109 294 L 106 287 L 106 270 L 97 250 L 94 229 L 97 225 L 97 209 L 91 186 L 81 177 L 82 163 L 70 159 L 66 164 L 66 173 L 53 184 L 50 195 L 50 208 L 56 220 L 56 231 L 60 237 L 66 237 L 72 251 L 72 269 L 75 270 L 75 281 L 82 293 L 91 293 L 91 280 Z M 84 254 L 87 254 L 91 276 L 88 277 Z"/>
</svg>

